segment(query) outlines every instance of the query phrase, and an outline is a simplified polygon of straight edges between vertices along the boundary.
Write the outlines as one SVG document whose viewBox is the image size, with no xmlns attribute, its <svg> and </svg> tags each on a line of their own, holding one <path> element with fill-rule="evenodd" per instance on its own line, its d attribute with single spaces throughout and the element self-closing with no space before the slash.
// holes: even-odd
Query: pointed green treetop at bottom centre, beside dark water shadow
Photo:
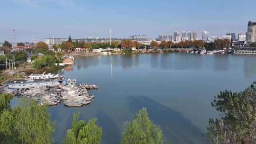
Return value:
<svg viewBox="0 0 256 144">
<path fill-rule="evenodd" d="M 148 118 L 146 108 L 138 111 L 122 129 L 121 144 L 164 144 L 162 130 Z"/>
</svg>

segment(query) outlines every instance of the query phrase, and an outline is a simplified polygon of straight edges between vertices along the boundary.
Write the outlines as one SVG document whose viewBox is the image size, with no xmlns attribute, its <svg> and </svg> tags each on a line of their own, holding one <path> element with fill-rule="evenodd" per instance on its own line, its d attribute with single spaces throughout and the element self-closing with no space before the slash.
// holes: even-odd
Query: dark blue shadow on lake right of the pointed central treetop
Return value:
<svg viewBox="0 0 256 144">
<path fill-rule="evenodd" d="M 146 107 L 151 120 L 163 129 L 165 144 L 205 144 L 198 127 L 173 108 L 166 107 L 145 96 L 128 97 L 129 108 L 136 113 Z"/>
</svg>

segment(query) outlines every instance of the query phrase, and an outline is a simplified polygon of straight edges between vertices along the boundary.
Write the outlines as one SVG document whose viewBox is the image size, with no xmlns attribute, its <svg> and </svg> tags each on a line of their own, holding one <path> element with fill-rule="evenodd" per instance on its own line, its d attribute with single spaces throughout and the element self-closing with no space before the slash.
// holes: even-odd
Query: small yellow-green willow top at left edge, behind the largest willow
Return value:
<svg viewBox="0 0 256 144">
<path fill-rule="evenodd" d="M 9 93 L 0 94 L 0 114 L 2 111 L 10 109 L 11 99 L 12 99 L 12 95 Z"/>
</svg>

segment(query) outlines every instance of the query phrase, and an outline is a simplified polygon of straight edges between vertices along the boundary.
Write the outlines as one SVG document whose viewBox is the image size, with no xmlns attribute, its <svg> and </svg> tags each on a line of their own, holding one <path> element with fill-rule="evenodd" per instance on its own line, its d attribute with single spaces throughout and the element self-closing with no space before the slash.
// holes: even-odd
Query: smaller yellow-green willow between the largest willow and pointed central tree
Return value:
<svg viewBox="0 0 256 144">
<path fill-rule="evenodd" d="M 74 114 L 71 129 L 66 131 L 63 144 L 99 144 L 101 128 L 95 124 L 96 118 L 86 123 L 79 120 L 80 115 Z"/>
</svg>

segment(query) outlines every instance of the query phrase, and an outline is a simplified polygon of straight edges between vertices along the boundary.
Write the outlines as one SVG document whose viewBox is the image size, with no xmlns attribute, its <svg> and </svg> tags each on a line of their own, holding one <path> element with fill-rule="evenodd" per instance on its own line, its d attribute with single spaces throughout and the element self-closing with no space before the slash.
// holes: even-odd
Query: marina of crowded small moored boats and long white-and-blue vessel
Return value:
<svg viewBox="0 0 256 144">
<path fill-rule="evenodd" d="M 55 106 L 62 100 L 65 106 L 80 107 L 88 105 L 94 95 L 88 90 L 98 90 L 95 84 L 77 84 L 76 80 L 65 79 L 48 73 L 30 75 L 25 79 L 7 80 L 4 83 L 5 91 L 18 98 L 31 98 L 40 106 Z"/>
</svg>

